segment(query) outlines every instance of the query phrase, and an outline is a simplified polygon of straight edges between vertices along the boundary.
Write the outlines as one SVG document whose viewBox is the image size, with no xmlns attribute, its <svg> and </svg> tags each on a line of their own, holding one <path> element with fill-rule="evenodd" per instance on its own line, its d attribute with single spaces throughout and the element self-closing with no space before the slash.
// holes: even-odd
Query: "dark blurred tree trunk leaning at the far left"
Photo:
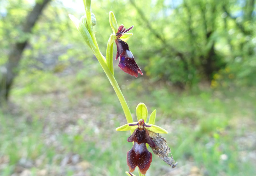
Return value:
<svg viewBox="0 0 256 176">
<path fill-rule="evenodd" d="M 36 3 L 33 10 L 28 13 L 26 21 L 22 26 L 24 33 L 30 33 L 34 27 L 36 20 L 42 13 L 45 5 L 50 0 L 43 0 Z M 28 38 L 22 42 L 17 42 L 13 45 L 8 56 L 8 61 L 5 66 L 0 69 L 2 78 L 0 79 L 0 105 L 8 100 L 9 92 L 12 86 L 13 79 L 18 74 L 18 66 L 22 56 L 22 52 L 28 43 Z"/>
</svg>

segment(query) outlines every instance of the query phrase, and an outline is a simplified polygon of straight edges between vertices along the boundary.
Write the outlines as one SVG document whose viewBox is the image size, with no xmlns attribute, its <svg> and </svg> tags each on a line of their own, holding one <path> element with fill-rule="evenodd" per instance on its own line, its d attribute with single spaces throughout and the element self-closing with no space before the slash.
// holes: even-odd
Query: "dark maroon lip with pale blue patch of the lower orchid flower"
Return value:
<svg viewBox="0 0 256 176">
<path fill-rule="evenodd" d="M 130 168 L 130 172 L 133 172 L 136 166 L 138 166 L 140 172 L 144 175 L 152 162 L 152 153 L 148 151 L 146 143 L 151 147 L 156 147 L 156 145 L 149 137 L 148 130 L 145 128 L 145 126 L 150 126 L 146 125 L 143 119 L 140 119 L 137 124 L 129 125 L 138 125 L 138 128 L 127 139 L 128 142 L 134 141 L 131 150 L 127 152 L 127 165 Z"/>
</svg>

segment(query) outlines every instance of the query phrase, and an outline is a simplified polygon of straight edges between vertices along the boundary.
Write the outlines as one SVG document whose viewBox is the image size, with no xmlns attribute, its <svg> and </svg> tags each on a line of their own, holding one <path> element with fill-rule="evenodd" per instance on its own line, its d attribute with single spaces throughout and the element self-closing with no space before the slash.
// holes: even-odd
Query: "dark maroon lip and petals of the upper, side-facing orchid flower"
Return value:
<svg viewBox="0 0 256 176">
<path fill-rule="evenodd" d="M 119 26 L 115 40 L 117 47 L 116 60 L 120 57 L 118 67 L 120 67 L 121 70 L 123 70 L 125 73 L 128 73 L 129 75 L 138 77 L 138 73 L 140 73 L 140 75 L 143 75 L 143 73 L 139 66 L 136 64 L 132 52 L 129 50 L 128 44 L 120 39 L 124 33 L 128 32 L 132 28 L 133 26 L 129 29 L 124 28 L 124 25 Z"/>
</svg>

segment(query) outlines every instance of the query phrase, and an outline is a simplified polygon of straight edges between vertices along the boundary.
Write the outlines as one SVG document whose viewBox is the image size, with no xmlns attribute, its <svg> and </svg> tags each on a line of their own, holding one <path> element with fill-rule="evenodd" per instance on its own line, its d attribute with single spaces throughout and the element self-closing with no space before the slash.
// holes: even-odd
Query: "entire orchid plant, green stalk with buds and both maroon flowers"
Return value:
<svg viewBox="0 0 256 176">
<path fill-rule="evenodd" d="M 93 26 L 96 24 L 96 18 L 94 14 L 91 12 L 91 0 L 83 0 L 84 8 L 86 11 L 86 15 L 81 17 L 80 20 L 76 19 L 73 15 L 69 14 L 70 19 L 76 25 L 76 28 L 83 36 L 86 44 L 91 48 L 93 54 L 96 56 L 97 60 L 100 63 L 100 66 L 104 70 L 106 76 L 110 84 L 112 85 L 116 95 L 120 101 L 120 104 L 123 108 L 124 115 L 127 121 L 127 124 L 116 128 L 116 131 L 130 131 L 131 136 L 127 139 L 127 141 L 133 143 L 133 147 L 130 151 L 127 152 L 127 164 L 130 168 L 130 172 L 126 172 L 127 175 L 134 175 L 131 172 L 138 166 L 139 176 L 143 176 L 142 173 L 146 174 L 150 163 L 152 161 L 152 154 L 148 151 L 148 147 L 150 146 L 155 154 L 158 153 L 159 146 L 163 146 L 161 141 L 159 143 L 158 139 L 164 141 L 165 139 L 161 137 L 158 133 L 168 133 L 163 128 L 155 125 L 156 119 L 156 110 L 154 110 L 149 118 L 148 124 L 147 116 L 148 116 L 148 109 L 144 103 L 140 103 L 136 108 L 136 115 L 138 122 L 133 123 L 131 111 L 126 103 L 124 95 L 116 82 L 114 76 L 114 69 L 113 69 L 113 44 L 114 42 L 117 45 L 117 53 L 116 59 L 120 58 L 118 66 L 124 72 L 138 77 L 138 73 L 143 75 L 141 69 L 136 64 L 132 52 L 129 50 L 129 46 L 126 41 L 132 36 L 132 33 L 127 33 L 129 30 L 133 28 L 130 27 L 128 29 L 124 28 L 124 25 L 120 25 L 118 27 L 115 15 L 113 12 L 109 12 L 109 23 L 110 27 L 112 28 L 113 33 L 110 35 L 107 43 L 106 49 L 106 58 L 100 52 Z M 165 140 L 166 141 L 166 140 Z M 155 143 L 157 145 L 155 145 Z M 167 144 L 166 144 L 167 146 Z M 166 147 L 164 146 L 164 147 Z M 166 147 L 169 148 L 168 146 Z M 169 148 L 170 150 L 170 148 Z M 170 151 L 171 152 L 171 151 Z M 164 158 L 163 160 L 166 162 L 168 160 L 167 154 L 161 154 L 160 158 Z M 167 159 L 166 159 L 167 158 Z M 171 166 L 174 160 L 171 160 Z M 141 173 L 142 172 L 142 173 Z"/>
</svg>

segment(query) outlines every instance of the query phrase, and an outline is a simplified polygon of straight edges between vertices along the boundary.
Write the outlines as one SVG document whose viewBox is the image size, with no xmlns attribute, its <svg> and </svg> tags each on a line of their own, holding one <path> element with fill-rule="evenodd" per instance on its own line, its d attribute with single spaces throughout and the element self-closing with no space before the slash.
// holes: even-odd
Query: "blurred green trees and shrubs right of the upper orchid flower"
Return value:
<svg viewBox="0 0 256 176">
<path fill-rule="evenodd" d="M 118 22 L 135 26 L 128 44 L 139 65 L 144 64 L 146 75 L 184 85 L 202 79 L 217 81 L 214 75 L 222 75 L 226 68 L 233 77 L 224 74 L 222 82 L 252 84 L 256 70 L 254 4 L 252 0 L 130 0 L 102 1 L 100 6 L 115 12 Z"/>
</svg>

